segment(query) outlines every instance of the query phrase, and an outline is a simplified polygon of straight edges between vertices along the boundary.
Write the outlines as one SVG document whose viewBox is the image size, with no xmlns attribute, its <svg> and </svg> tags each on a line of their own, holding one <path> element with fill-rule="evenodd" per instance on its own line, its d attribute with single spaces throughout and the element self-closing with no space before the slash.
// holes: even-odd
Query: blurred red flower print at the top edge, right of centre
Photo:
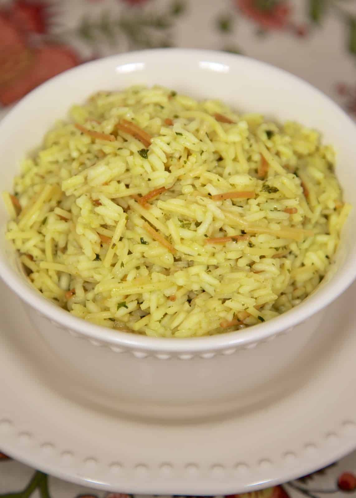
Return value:
<svg viewBox="0 0 356 498">
<path fill-rule="evenodd" d="M 283 29 L 289 23 L 291 5 L 287 0 L 235 0 L 241 12 L 264 29 Z"/>
</svg>

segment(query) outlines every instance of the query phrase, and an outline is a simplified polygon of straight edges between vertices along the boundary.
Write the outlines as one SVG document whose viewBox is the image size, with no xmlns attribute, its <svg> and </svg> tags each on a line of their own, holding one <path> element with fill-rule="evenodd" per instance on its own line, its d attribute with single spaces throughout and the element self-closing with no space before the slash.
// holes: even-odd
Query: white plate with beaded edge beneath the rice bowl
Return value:
<svg viewBox="0 0 356 498">
<path fill-rule="evenodd" d="M 278 397 L 185 424 L 73 399 L 65 372 L 51 376 L 54 359 L 22 304 L 1 282 L 0 294 L 0 447 L 28 465 L 101 489 L 215 495 L 288 481 L 356 447 L 356 284 L 275 380 Z"/>
</svg>

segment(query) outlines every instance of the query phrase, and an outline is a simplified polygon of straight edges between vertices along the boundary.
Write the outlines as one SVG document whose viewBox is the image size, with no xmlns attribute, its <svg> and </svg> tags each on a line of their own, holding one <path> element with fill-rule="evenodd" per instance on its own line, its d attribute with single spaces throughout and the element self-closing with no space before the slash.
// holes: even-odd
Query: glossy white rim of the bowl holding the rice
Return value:
<svg viewBox="0 0 356 498">
<path fill-rule="evenodd" d="M 185 49 L 185 48 L 159 48 L 150 50 L 132 51 L 123 54 L 111 55 L 95 61 L 89 61 L 80 66 L 64 71 L 59 75 L 51 78 L 50 80 L 42 83 L 34 90 L 29 92 L 23 99 L 21 99 L 9 113 L 0 122 L 0 135 L 6 132 L 6 126 L 14 117 L 21 112 L 22 107 L 25 106 L 32 99 L 41 94 L 44 87 L 49 88 L 53 86 L 54 89 L 66 79 L 73 78 L 76 74 L 80 74 L 88 70 L 90 66 L 92 70 L 100 69 L 100 66 L 106 66 L 109 62 L 114 62 L 118 65 L 124 61 L 127 63 L 128 59 L 141 58 L 144 62 L 149 62 L 151 57 L 157 57 L 170 54 L 170 56 L 185 56 L 190 57 L 192 60 L 199 60 L 201 58 L 212 58 L 218 63 L 234 64 L 236 60 L 243 60 L 247 64 L 258 66 L 262 71 L 278 73 L 281 78 L 293 80 L 298 85 L 307 88 L 309 91 L 321 97 L 325 104 L 328 105 L 335 113 L 343 116 L 350 125 L 350 129 L 354 128 L 356 138 L 356 124 L 346 114 L 346 112 L 336 104 L 329 96 L 325 95 L 321 90 L 315 88 L 313 85 L 303 80 L 302 78 L 285 71 L 284 69 L 277 68 L 272 64 L 253 59 L 239 54 L 231 54 L 216 50 L 200 50 L 200 49 Z M 303 323 L 313 314 L 321 311 L 328 306 L 332 301 L 340 296 L 356 278 L 356 250 L 354 250 L 348 257 L 347 263 L 344 265 L 342 271 L 337 271 L 332 277 L 331 282 L 318 290 L 317 293 L 308 296 L 298 306 L 281 314 L 280 316 L 269 320 L 268 322 L 257 324 L 244 330 L 237 330 L 228 333 L 222 333 L 214 336 L 190 337 L 190 338 L 157 338 L 135 333 L 120 332 L 112 330 L 99 325 L 86 322 L 81 318 L 77 318 L 68 311 L 65 311 L 54 303 L 44 298 L 39 291 L 31 288 L 25 283 L 24 279 L 20 277 L 11 267 L 5 265 L 0 260 L 0 277 L 25 303 L 37 310 L 41 315 L 44 315 L 49 320 L 56 322 L 58 325 L 75 331 L 82 337 L 99 341 L 100 343 L 107 343 L 112 346 L 126 347 L 128 349 L 135 349 L 138 351 L 148 352 L 162 352 L 162 353 L 197 353 L 208 351 L 220 351 L 236 346 L 257 344 L 261 341 L 268 340 L 272 336 L 280 334 L 284 331 L 292 330 L 296 325 Z M 333 284 L 333 286 L 331 285 Z M 83 324 L 85 323 L 85 327 Z M 256 328 L 257 327 L 257 328 Z M 83 330 L 84 329 L 84 330 Z"/>
</svg>

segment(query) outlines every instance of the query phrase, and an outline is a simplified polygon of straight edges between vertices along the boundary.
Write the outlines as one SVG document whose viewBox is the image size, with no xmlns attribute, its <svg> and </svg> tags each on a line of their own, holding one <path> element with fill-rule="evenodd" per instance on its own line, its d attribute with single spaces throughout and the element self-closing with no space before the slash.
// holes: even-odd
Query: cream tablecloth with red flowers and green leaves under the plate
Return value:
<svg viewBox="0 0 356 498">
<path fill-rule="evenodd" d="M 356 117 L 356 0 L 0 0 L 0 118 L 32 88 L 77 64 L 170 46 L 264 60 L 319 87 Z M 337 498 L 352 491 L 356 453 L 255 495 Z M 128 495 L 68 484 L 0 454 L 5 496 Z"/>
</svg>

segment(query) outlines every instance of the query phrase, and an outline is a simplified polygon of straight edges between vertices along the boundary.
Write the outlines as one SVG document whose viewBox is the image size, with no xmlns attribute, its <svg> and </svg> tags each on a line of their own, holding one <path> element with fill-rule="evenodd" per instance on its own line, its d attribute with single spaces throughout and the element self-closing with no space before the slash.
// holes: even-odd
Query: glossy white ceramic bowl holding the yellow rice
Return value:
<svg viewBox="0 0 356 498">
<path fill-rule="evenodd" d="M 198 99 L 218 98 L 237 110 L 296 120 L 323 133 L 337 150 L 345 199 L 356 205 L 356 127 L 328 97 L 282 70 L 226 53 L 164 49 L 101 59 L 67 71 L 31 92 L 0 124 L 1 188 L 11 190 L 23 156 L 74 103 L 99 90 L 160 84 Z M 356 276 L 353 210 L 336 264 L 298 307 L 243 332 L 193 339 L 155 339 L 104 329 L 45 300 L 23 278 L 3 233 L 0 275 L 25 303 L 32 322 L 56 357 L 53 368 L 71 374 L 70 389 L 130 414 L 203 416 L 254 402 L 290 365 L 318 327 L 320 313 Z M 15 313 L 16 310 L 13 310 Z M 24 331 L 25 333 L 25 331 Z M 335 328 L 337 333 L 337 326 Z M 264 387 L 265 386 L 265 387 Z M 69 386 L 68 386 L 69 388 Z M 276 386 L 278 388 L 278 386 Z M 248 397 L 246 398 L 246 393 Z"/>
</svg>

